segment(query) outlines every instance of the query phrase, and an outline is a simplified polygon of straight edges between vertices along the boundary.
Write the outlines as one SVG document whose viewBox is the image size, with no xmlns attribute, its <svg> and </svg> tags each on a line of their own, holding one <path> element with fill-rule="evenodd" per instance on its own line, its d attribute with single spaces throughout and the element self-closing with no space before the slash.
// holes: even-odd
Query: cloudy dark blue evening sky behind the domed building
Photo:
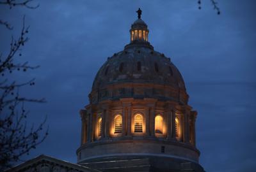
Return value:
<svg viewBox="0 0 256 172">
<path fill-rule="evenodd" d="M 35 1 L 36 10 L 0 8 L 14 31 L 0 27 L 0 52 L 20 31 L 22 15 L 30 25 L 22 61 L 40 65 L 17 80 L 36 78 L 27 97 L 47 103 L 26 104 L 29 124 L 47 115 L 49 136 L 29 157 L 45 154 L 76 162 L 80 143 L 79 110 L 100 66 L 129 43 L 135 11 L 150 30 L 155 50 L 171 57 L 184 77 L 196 124 L 200 164 L 205 171 L 255 171 L 256 168 L 256 1 L 220 1 L 221 15 L 210 1 Z M 5 40 L 5 41 L 4 41 Z"/>
</svg>

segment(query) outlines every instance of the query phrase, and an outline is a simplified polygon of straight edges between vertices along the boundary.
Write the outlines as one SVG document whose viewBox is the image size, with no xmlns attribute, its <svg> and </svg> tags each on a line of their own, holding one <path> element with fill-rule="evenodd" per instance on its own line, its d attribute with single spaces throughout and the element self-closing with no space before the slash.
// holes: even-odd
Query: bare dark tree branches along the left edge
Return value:
<svg viewBox="0 0 256 172">
<path fill-rule="evenodd" d="M 26 8 L 37 8 L 31 6 L 28 1 L 6 0 L 0 4 L 10 6 L 25 6 Z M 1 20 L 0 24 L 7 29 L 12 29 L 8 22 Z M 24 83 L 10 81 L 13 70 L 26 72 L 28 69 L 36 69 L 39 66 L 30 66 L 28 62 L 17 62 L 20 58 L 22 47 L 28 42 L 28 29 L 25 25 L 25 16 L 22 20 L 22 29 L 17 39 L 12 37 L 10 51 L 3 55 L 0 53 L 0 171 L 11 168 L 15 162 L 22 161 L 22 155 L 29 154 L 33 148 L 42 143 L 48 134 L 48 128 L 43 131 L 45 120 L 34 127 L 27 127 L 26 117 L 29 113 L 25 110 L 24 103 L 45 103 L 45 99 L 31 99 L 20 96 L 19 90 L 22 87 L 35 85 L 35 79 Z M 1 40 L 2 41 L 2 40 Z M 8 75 L 7 75 L 8 72 Z M 4 78 L 5 77 L 5 78 Z"/>
</svg>

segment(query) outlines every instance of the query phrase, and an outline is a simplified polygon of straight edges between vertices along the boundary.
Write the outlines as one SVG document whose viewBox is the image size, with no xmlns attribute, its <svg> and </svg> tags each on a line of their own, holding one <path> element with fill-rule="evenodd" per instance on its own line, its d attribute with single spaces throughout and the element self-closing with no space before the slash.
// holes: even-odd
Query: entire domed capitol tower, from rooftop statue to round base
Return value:
<svg viewBox="0 0 256 172">
<path fill-rule="evenodd" d="M 184 80 L 170 57 L 154 50 L 138 19 L 130 43 L 99 69 L 80 111 L 77 163 L 100 171 L 196 171 L 195 122 Z"/>
</svg>

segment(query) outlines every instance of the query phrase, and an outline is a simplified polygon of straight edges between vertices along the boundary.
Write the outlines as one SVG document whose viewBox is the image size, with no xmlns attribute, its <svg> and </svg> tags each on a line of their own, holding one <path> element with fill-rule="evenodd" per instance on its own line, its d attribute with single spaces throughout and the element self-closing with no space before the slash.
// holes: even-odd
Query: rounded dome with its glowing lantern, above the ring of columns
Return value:
<svg viewBox="0 0 256 172">
<path fill-rule="evenodd" d="M 90 103 L 148 97 L 186 104 L 188 95 L 182 75 L 170 58 L 150 45 L 147 24 L 138 18 L 131 25 L 130 34 L 131 42 L 124 50 L 108 57 L 99 69 L 89 95 Z M 114 85 L 119 86 L 114 88 Z"/>
</svg>

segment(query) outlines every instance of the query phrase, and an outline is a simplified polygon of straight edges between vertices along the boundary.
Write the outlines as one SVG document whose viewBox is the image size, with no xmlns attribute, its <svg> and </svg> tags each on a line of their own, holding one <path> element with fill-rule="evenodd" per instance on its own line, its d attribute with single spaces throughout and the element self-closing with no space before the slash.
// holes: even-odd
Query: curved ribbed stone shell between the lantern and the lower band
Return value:
<svg viewBox="0 0 256 172">
<path fill-rule="evenodd" d="M 186 90 L 182 75 L 170 58 L 136 43 L 108 58 L 99 69 L 92 90 L 113 83 L 157 83 Z"/>
</svg>

